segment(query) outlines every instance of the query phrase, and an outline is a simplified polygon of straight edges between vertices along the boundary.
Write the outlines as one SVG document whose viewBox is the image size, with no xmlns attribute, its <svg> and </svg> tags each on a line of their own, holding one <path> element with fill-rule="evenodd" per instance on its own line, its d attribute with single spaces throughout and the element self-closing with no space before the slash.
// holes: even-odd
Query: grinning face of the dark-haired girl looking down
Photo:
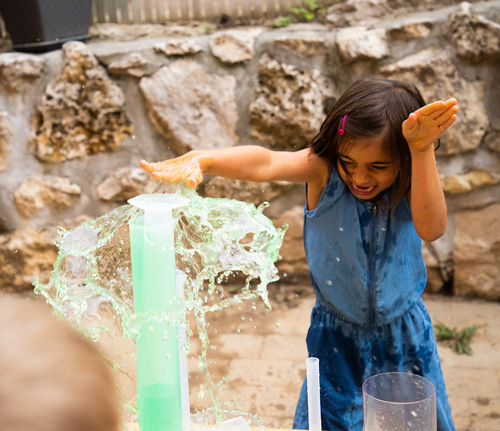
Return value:
<svg viewBox="0 0 500 431">
<path fill-rule="evenodd" d="M 384 134 L 351 141 L 340 147 L 337 169 L 354 196 L 364 200 L 375 198 L 390 187 L 398 175 L 390 156 L 385 151 Z"/>
</svg>

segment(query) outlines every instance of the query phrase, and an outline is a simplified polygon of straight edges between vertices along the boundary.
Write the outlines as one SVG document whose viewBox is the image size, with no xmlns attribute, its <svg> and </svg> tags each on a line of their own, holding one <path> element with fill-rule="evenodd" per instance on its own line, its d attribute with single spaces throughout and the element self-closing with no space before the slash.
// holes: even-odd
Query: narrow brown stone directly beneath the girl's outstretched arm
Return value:
<svg viewBox="0 0 500 431">
<path fill-rule="evenodd" d="M 249 181 L 231 180 L 212 177 L 203 187 L 203 194 L 211 198 L 238 199 L 260 205 L 278 197 L 285 190 L 293 187 L 292 183 L 273 181 L 254 183 Z"/>
</svg>

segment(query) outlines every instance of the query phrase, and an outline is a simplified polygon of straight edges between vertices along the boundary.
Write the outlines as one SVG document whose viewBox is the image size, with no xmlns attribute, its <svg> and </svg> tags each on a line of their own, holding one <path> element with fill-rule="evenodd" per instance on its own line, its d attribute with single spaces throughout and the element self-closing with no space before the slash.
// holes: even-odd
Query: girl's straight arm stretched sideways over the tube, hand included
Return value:
<svg viewBox="0 0 500 431">
<path fill-rule="evenodd" d="M 194 188 L 203 174 L 247 181 L 291 181 L 320 183 L 328 177 L 326 164 L 309 149 L 288 152 L 242 145 L 218 150 L 191 151 L 158 163 L 141 160 L 153 178 L 166 182 L 185 182 Z"/>
</svg>

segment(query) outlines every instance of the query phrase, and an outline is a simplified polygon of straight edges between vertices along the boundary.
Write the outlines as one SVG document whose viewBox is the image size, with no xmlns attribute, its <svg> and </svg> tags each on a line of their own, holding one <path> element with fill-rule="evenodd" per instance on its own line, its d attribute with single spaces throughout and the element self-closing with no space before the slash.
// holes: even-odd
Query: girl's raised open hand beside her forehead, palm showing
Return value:
<svg viewBox="0 0 500 431">
<path fill-rule="evenodd" d="M 457 100 L 429 103 L 412 112 L 403 122 L 403 136 L 410 150 L 425 151 L 431 148 L 443 132 L 457 119 Z"/>
</svg>

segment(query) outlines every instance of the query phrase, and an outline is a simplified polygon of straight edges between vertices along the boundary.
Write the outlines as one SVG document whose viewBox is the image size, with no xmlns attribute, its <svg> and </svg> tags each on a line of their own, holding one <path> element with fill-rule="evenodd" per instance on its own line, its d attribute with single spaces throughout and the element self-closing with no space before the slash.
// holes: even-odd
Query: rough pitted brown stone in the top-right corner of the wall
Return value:
<svg viewBox="0 0 500 431">
<path fill-rule="evenodd" d="M 474 63 L 500 57 L 500 24 L 478 16 L 470 3 L 460 4 L 443 32 L 459 57 Z"/>
</svg>

